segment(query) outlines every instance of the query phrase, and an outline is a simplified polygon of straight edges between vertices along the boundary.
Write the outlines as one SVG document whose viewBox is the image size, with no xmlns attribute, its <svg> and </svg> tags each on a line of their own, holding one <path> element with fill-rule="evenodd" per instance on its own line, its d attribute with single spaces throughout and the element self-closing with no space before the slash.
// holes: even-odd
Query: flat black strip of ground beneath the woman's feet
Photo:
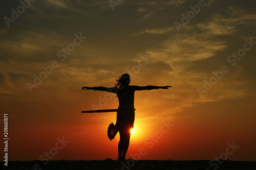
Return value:
<svg viewBox="0 0 256 170">
<path fill-rule="evenodd" d="M 139 160 L 135 161 L 132 159 L 126 160 L 125 162 L 118 162 L 112 159 L 106 160 L 59 160 L 49 161 L 44 165 L 46 161 L 8 161 L 8 166 L 1 162 L 0 169 L 191 169 L 191 170 L 212 170 L 212 169 L 253 169 L 256 170 L 255 161 L 221 161 L 211 162 L 209 160 L 185 160 L 185 161 L 172 161 L 172 160 Z"/>
</svg>

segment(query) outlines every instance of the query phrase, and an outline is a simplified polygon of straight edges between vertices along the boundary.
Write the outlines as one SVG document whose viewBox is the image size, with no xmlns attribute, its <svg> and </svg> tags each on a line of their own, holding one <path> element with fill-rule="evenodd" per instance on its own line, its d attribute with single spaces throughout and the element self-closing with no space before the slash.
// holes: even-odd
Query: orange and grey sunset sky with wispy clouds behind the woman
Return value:
<svg viewBox="0 0 256 170">
<path fill-rule="evenodd" d="M 135 92 L 127 159 L 256 161 L 255 1 L 22 2 L 0 5 L 9 160 L 116 160 L 116 113 L 80 112 L 118 98 L 81 88 L 127 72 L 130 85 L 173 86 Z"/>
</svg>

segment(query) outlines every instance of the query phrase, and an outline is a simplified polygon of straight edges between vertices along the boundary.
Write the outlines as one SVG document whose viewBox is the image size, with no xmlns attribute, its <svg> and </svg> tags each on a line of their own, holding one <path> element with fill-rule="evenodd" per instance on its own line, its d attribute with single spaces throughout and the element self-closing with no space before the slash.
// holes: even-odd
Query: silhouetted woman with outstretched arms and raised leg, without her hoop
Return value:
<svg viewBox="0 0 256 170">
<path fill-rule="evenodd" d="M 108 91 L 116 93 L 118 96 L 119 107 L 116 116 L 116 124 L 110 124 L 108 137 L 112 140 L 117 132 L 120 135 L 118 143 L 118 161 L 125 160 L 125 154 L 130 143 L 130 130 L 133 129 L 135 112 L 134 112 L 134 92 L 136 90 L 168 89 L 172 86 L 130 86 L 129 74 L 123 74 L 116 80 L 115 87 L 82 87 L 86 90 Z"/>
</svg>

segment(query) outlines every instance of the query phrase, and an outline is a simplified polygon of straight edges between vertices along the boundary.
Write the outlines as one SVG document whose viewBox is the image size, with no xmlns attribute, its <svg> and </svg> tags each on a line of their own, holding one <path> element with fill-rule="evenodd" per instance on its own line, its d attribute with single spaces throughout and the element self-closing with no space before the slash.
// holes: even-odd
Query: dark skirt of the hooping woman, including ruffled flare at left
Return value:
<svg viewBox="0 0 256 170">
<path fill-rule="evenodd" d="M 134 110 L 118 110 L 116 116 L 116 125 L 111 123 L 108 128 L 108 137 L 114 139 L 117 132 L 130 132 L 134 125 L 135 112 Z"/>
</svg>

